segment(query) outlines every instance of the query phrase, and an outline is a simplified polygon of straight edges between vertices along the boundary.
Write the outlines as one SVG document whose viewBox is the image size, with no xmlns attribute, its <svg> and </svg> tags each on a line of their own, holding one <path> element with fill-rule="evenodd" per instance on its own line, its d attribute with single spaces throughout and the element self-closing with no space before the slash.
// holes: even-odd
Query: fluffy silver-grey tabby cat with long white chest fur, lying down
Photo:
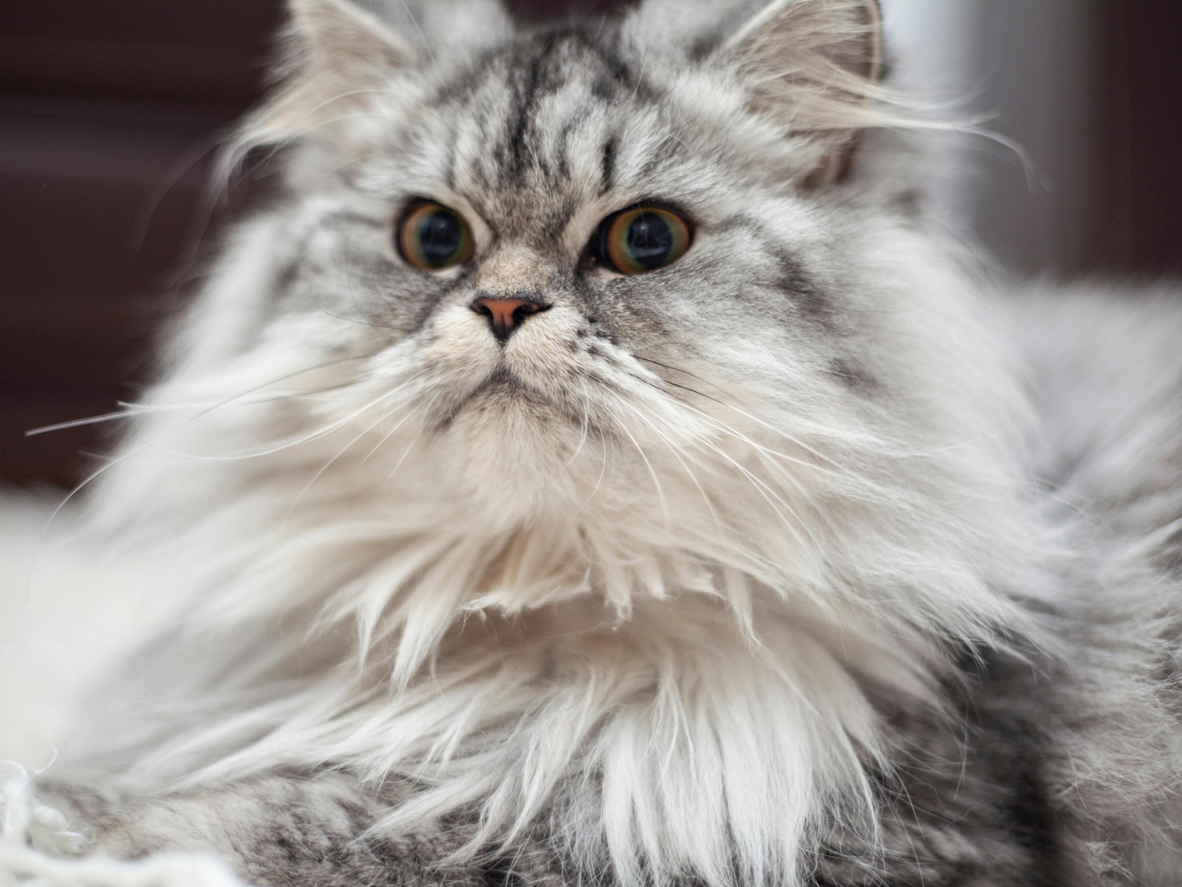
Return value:
<svg viewBox="0 0 1182 887">
<path fill-rule="evenodd" d="M 9 881 L 1182 882 L 1182 310 L 941 233 L 873 0 L 291 13 Z"/>
</svg>

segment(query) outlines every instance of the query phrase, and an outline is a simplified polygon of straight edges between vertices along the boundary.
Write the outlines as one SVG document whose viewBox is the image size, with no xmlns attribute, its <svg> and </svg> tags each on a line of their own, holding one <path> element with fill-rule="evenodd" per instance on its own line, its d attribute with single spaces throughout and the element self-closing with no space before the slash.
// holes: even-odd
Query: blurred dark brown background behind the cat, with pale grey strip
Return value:
<svg viewBox="0 0 1182 887">
<path fill-rule="evenodd" d="M 1018 271 L 1182 271 L 1182 4 L 941 2 L 972 13 L 979 102 L 1039 167 L 1034 188 L 1013 157 L 974 171 L 988 246 Z M 207 229 L 209 151 L 280 20 L 280 0 L 0 4 L 0 481 L 74 483 L 98 432 L 24 432 L 136 396 L 178 270 L 232 215 Z"/>
</svg>

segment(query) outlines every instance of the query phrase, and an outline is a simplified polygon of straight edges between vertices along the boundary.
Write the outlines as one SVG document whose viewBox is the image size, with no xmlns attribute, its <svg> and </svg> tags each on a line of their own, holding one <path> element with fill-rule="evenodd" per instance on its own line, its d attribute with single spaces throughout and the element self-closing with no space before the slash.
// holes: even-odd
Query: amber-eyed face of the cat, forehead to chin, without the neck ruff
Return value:
<svg viewBox="0 0 1182 887">
<path fill-rule="evenodd" d="M 356 8 L 297 5 L 312 57 L 265 118 L 304 128 L 260 341 L 366 355 L 361 389 L 407 386 L 448 473 L 527 511 L 578 506 L 608 461 L 632 483 L 650 452 L 778 409 L 860 408 L 882 382 L 857 310 L 901 226 L 826 175 L 851 124 L 824 115 L 859 114 L 833 47 L 872 56 L 873 20 L 794 4 L 751 35 L 751 9 L 706 6 L 416 56 Z M 773 61 L 799 92 L 774 112 L 752 85 Z M 632 241 L 648 265 L 619 258 Z"/>
</svg>

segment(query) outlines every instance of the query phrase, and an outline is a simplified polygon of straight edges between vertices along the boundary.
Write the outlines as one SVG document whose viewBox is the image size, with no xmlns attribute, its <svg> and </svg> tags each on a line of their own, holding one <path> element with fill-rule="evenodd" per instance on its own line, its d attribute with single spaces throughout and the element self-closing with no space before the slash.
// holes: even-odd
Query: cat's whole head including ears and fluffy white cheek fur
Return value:
<svg viewBox="0 0 1182 887">
<path fill-rule="evenodd" d="M 138 435 L 203 459 L 175 494 L 615 535 L 781 589 L 988 548 L 1012 393 L 886 131 L 872 0 L 291 8 L 241 142 L 285 149 L 285 195 L 155 395 L 204 406 Z"/>
</svg>

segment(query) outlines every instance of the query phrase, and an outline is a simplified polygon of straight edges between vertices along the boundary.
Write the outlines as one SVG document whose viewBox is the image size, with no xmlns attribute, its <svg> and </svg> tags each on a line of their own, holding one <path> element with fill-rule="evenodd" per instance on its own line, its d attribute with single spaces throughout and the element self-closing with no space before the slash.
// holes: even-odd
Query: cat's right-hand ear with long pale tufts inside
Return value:
<svg viewBox="0 0 1182 887">
<path fill-rule="evenodd" d="M 821 148 L 811 183 L 844 175 L 882 95 L 878 0 L 647 0 L 625 24 L 637 48 L 734 77 L 753 110 Z"/>
</svg>

